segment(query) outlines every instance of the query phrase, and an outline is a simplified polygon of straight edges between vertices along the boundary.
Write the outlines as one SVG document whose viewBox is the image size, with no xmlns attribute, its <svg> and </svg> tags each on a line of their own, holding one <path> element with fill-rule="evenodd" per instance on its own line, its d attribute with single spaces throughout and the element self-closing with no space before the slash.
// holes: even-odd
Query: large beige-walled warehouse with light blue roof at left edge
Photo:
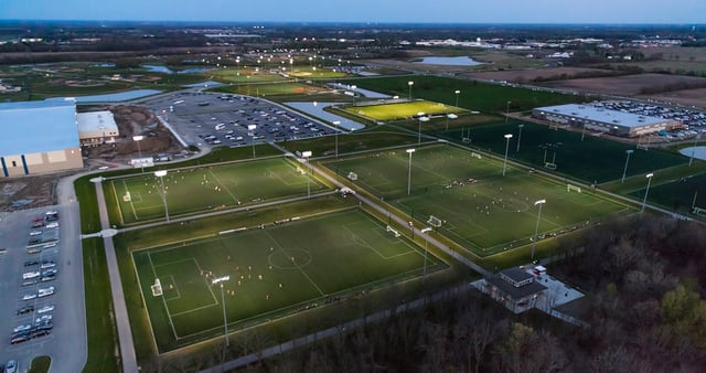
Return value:
<svg viewBox="0 0 706 373">
<path fill-rule="evenodd" d="M 83 168 L 73 98 L 0 104 L 2 175 Z"/>
</svg>

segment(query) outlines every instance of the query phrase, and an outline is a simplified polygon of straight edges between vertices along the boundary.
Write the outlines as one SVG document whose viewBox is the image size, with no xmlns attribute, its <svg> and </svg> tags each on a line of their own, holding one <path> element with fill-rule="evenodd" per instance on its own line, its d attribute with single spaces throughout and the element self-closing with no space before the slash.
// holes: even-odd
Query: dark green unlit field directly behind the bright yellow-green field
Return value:
<svg viewBox="0 0 706 373">
<path fill-rule="evenodd" d="M 461 93 L 458 95 L 459 107 L 486 113 L 504 113 L 507 102 L 511 102 L 510 110 L 517 111 L 537 106 L 581 103 L 586 99 L 584 96 L 438 76 L 395 76 L 347 79 L 346 82 L 361 88 L 407 97 L 409 95 L 407 83 L 410 81 L 415 82 L 411 86 L 413 98 L 424 98 L 456 106 L 456 90 L 460 90 Z"/>
</svg>

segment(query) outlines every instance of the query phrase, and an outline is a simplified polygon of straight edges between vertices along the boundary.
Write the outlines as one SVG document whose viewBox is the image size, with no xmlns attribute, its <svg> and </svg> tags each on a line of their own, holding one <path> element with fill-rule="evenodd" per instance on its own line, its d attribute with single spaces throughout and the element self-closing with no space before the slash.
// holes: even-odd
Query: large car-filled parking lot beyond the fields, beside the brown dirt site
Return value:
<svg viewBox="0 0 706 373">
<path fill-rule="evenodd" d="M 277 104 L 195 90 L 146 102 L 190 145 L 252 146 L 332 135 L 336 129 Z"/>
</svg>

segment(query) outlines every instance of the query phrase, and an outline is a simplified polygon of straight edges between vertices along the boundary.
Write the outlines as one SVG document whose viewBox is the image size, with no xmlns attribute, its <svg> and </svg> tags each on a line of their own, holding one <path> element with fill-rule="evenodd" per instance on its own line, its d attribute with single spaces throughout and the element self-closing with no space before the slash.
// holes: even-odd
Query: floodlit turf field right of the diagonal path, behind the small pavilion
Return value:
<svg viewBox="0 0 706 373">
<path fill-rule="evenodd" d="M 409 195 L 409 156 L 404 149 L 327 166 L 341 175 L 356 173 L 355 183 L 418 222 L 426 222 L 429 215 L 445 221 L 440 233 L 480 256 L 530 244 L 538 214 L 534 202 L 538 200 L 546 200 L 539 236 L 631 211 L 590 190 L 567 191 L 566 183 L 510 166 L 503 177 L 502 162 L 478 159 L 471 151 L 450 146 L 416 149 L 411 159 Z"/>
</svg>

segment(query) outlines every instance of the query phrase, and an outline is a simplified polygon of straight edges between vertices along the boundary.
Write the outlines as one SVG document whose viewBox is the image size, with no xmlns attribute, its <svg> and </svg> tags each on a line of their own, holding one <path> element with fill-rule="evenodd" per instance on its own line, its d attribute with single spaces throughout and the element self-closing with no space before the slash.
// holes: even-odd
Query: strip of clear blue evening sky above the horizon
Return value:
<svg viewBox="0 0 706 373">
<path fill-rule="evenodd" d="M 0 20 L 706 23 L 706 0 L 0 0 Z"/>
</svg>

